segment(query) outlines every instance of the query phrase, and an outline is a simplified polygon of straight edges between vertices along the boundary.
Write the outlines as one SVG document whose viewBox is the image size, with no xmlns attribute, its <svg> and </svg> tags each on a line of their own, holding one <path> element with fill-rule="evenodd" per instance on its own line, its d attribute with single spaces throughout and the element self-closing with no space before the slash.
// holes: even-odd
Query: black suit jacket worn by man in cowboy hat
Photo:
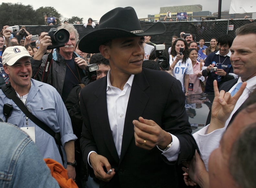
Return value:
<svg viewBox="0 0 256 188">
<path fill-rule="evenodd" d="M 95 151 L 105 156 L 115 176 L 101 187 L 178 187 L 175 162 L 168 162 L 155 147 L 148 151 L 135 145 L 133 120 L 139 116 L 154 120 L 165 131 L 178 137 L 181 148 L 178 163 L 191 159 L 196 143 L 185 111 L 180 81 L 162 71 L 142 69 L 134 76 L 127 105 L 120 159 L 112 137 L 106 102 L 107 76 L 82 89 L 83 116 L 80 140 L 83 160 Z M 91 169 L 91 168 L 90 168 Z M 92 173 L 92 171 L 90 172 Z"/>
</svg>

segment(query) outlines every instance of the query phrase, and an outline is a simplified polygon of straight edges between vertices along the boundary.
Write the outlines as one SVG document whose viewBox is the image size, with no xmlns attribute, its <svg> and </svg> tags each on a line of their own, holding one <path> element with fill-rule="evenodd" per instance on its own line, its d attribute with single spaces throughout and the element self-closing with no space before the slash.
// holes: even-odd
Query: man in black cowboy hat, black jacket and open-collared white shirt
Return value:
<svg viewBox="0 0 256 188">
<path fill-rule="evenodd" d="M 143 36 L 164 32 L 161 22 L 143 31 L 135 10 L 119 7 L 79 43 L 110 64 L 80 93 L 83 160 L 100 187 L 178 187 L 175 164 L 195 153 L 180 82 L 141 67 Z"/>
</svg>

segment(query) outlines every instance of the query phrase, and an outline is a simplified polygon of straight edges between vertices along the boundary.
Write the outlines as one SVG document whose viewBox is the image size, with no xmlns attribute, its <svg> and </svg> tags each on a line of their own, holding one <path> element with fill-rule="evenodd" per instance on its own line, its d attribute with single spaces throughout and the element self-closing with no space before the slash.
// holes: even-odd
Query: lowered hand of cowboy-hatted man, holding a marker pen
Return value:
<svg viewBox="0 0 256 188">
<path fill-rule="evenodd" d="M 91 166 L 93 167 L 94 174 L 98 179 L 104 182 L 109 182 L 114 177 L 115 169 L 111 168 L 111 165 L 109 164 L 106 157 L 98 155 L 97 153 L 93 152 L 90 154 L 89 160 Z M 112 172 L 110 174 L 106 174 L 106 172 L 103 169 L 103 166 L 106 167 L 107 171 L 112 169 Z"/>
</svg>

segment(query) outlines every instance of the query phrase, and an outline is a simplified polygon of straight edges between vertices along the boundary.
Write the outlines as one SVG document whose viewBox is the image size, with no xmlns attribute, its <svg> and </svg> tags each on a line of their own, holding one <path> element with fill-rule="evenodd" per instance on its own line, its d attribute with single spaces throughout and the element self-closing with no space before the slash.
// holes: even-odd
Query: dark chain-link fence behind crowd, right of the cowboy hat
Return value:
<svg viewBox="0 0 256 188">
<path fill-rule="evenodd" d="M 163 35 L 151 36 L 151 42 L 162 44 L 167 47 L 172 45 L 172 36 L 179 36 L 180 32 L 195 35 L 195 41 L 200 38 L 205 39 L 205 45 L 210 45 L 211 38 L 217 38 L 221 35 L 230 35 L 235 37 L 235 31 L 242 25 L 256 22 L 256 19 L 223 19 L 223 20 L 205 20 L 205 21 L 182 21 L 182 22 L 163 22 L 166 26 L 166 32 Z M 141 22 L 145 30 L 153 23 Z"/>
</svg>

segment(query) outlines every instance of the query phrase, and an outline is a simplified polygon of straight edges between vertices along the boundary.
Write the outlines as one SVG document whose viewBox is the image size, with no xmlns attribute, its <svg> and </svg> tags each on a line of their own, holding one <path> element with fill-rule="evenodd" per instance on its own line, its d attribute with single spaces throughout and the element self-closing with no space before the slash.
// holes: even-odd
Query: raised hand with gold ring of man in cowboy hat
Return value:
<svg viewBox="0 0 256 188">
<path fill-rule="evenodd" d="M 151 150 L 156 145 L 165 149 L 172 142 L 171 134 L 164 131 L 153 120 L 147 120 L 139 117 L 138 120 L 133 120 L 135 144 L 138 147 Z"/>
</svg>

